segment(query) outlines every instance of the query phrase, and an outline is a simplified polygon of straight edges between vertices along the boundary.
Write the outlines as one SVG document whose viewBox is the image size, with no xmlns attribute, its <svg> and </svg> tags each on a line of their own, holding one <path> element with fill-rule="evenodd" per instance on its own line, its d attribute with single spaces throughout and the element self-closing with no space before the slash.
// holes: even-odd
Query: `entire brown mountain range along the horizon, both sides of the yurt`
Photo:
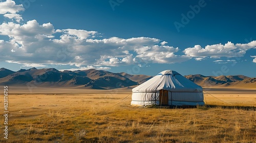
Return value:
<svg viewBox="0 0 256 143">
<path fill-rule="evenodd" d="M 256 87 L 256 78 L 238 76 L 187 75 L 187 79 L 203 87 Z M 82 87 L 85 89 L 133 88 L 152 76 L 111 73 L 105 70 L 63 70 L 55 68 L 30 68 L 12 71 L 0 69 L 0 85 L 40 87 Z"/>
</svg>

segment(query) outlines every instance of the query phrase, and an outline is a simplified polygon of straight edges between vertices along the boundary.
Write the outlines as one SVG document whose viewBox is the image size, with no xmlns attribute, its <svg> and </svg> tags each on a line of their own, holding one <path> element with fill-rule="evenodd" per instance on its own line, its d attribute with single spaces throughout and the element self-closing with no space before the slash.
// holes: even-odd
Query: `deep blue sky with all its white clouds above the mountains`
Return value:
<svg viewBox="0 0 256 143">
<path fill-rule="evenodd" d="M 0 1 L 0 65 L 256 77 L 255 1 Z"/>
</svg>

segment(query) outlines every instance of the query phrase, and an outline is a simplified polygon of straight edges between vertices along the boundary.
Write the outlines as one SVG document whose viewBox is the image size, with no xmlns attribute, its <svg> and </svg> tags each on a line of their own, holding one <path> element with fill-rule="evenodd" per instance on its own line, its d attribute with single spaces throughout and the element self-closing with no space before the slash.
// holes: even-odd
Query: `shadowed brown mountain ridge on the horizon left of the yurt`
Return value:
<svg viewBox="0 0 256 143">
<path fill-rule="evenodd" d="M 40 87 L 76 87 L 86 89 L 114 89 L 141 84 L 152 76 L 111 73 L 105 70 L 64 70 L 55 68 L 30 68 L 11 71 L 0 69 L 0 85 L 40 86 Z M 127 78 L 127 77 L 132 77 Z M 136 77 L 136 78 L 135 78 Z"/>
</svg>

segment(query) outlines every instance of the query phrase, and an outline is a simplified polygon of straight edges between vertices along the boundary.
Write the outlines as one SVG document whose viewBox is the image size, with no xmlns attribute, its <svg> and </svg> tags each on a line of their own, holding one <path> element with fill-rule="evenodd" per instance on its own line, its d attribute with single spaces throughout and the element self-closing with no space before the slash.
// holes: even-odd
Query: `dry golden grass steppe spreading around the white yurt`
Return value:
<svg viewBox="0 0 256 143">
<path fill-rule="evenodd" d="M 130 106 L 131 89 L 10 87 L 0 142 L 255 142 L 255 91 L 207 89 L 206 106 L 168 109 Z"/>
</svg>

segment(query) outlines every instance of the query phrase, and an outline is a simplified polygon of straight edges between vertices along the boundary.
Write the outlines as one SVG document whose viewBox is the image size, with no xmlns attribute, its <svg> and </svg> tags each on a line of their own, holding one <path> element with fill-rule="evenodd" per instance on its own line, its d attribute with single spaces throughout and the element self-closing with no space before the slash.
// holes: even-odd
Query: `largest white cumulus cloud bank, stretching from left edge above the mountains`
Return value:
<svg viewBox="0 0 256 143">
<path fill-rule="evenodd" d="M 141 62 L 175 63 L 190 59 L 176 55 L 179 48 L 162 45 L 160 39 L 102 39 L 96 31 L 54 30 L 51 23 L 40 25 L 36 20 L 24 24 L 4 22 L 0 25 L 0 35 L 9 37 L 9 41 L 1 40 L 0 56 L 5 57 L 1 59 L 24 66 L 62 64 L 104 67 L 138 65 Z"/>
</svg>

